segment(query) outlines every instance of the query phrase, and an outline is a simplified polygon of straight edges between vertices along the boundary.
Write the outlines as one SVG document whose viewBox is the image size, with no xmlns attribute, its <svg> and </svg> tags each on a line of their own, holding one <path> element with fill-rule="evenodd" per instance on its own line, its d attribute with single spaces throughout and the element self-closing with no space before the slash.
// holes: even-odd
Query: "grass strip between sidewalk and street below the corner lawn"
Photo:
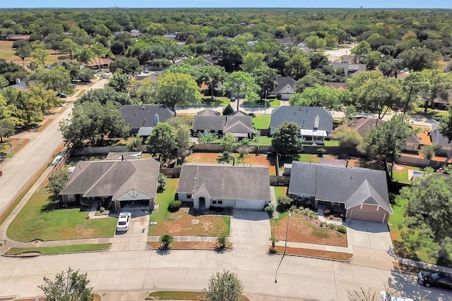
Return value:
<svg viewBox="0 0 452 301">
<path fill-rule="evenodd" d="M 107 249 L 111 243 L 97 243 L 90 245 L 60 245 L 57 247 L 11 247 L 6 252 L 8 255 L 17 255 L 30 252 L 39 252 L 44 255 L 48 254 L 61 254 L 69 252 L 88 252 L 88 251 L 100 251 Z"/>
</svg>

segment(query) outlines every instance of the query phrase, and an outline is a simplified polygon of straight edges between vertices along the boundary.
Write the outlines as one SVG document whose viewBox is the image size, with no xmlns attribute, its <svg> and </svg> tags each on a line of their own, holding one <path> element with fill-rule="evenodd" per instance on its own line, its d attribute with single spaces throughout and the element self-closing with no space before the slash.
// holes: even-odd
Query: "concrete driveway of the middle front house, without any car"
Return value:
<svg viewBox="0 0 452 301">
<path fill-rule="evenodd" d="M 230 228 L 234 250 L 246 248 L 266 252 L 270 237 L 270 220 L 266 212 L 234 210 Z"/>
</svg>

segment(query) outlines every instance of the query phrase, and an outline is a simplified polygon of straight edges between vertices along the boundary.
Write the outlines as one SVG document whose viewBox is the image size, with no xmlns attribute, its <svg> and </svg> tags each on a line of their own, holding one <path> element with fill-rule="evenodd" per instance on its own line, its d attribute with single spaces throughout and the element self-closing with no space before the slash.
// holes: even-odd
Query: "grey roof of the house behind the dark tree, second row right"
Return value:
<svg viewBox="0 0 452 301">
<path fill-rule="evenodd" d="M 300 129 L 313 130 L 317 115 L 317 130 L 333 130 L 333 116 L 326 109 L 317 106 L 280 106 L 271 112 L 270 128 L 278 128 L 284 121 L 291 121 L 297 123 Z"/>
</svg>

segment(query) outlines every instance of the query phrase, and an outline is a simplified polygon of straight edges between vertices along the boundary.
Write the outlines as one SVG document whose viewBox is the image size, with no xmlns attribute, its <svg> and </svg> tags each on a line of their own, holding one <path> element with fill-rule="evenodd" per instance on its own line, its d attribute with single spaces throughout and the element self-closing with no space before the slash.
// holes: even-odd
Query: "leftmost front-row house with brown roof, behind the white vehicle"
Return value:
<svg viewBox="0 0 452 301">
<path fill-rule="evenodd" d="M 115 211 L 155 206 L 160 164 L 154 159 L 131 161 L 80 161 L 61 195 L 69 202 L 111 202 Z"/>
</svg>

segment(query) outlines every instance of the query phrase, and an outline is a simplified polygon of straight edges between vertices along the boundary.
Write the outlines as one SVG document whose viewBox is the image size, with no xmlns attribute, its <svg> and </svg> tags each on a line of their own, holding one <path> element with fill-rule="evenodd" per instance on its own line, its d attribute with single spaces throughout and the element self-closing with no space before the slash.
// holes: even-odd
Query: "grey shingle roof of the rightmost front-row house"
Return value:
<svg viewBox="0 0 452 301">
<path fill-rule="evenodd" d="M 384 171 L 293 161 L 289 193 L 343 203 L 346 209 L 373 204 L 393 213 Z"/>
</svg>

